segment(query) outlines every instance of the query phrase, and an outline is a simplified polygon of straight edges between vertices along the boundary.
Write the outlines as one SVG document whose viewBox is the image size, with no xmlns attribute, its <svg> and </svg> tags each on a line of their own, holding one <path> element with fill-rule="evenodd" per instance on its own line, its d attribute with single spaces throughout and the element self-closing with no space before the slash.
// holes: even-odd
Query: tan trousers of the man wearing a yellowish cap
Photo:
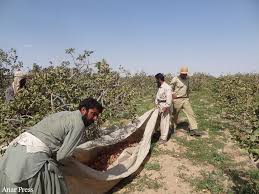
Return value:
<svg viewBox="0 0 259 194">
<path fill-rule="evenodd" d="M 177 124 L 178 115 L 179 115 L 181 110 L 183 110 L 183 112 L 186 114 L 191 130 L 197 129 L 198 124 L 196 122 L 195 114 L 192 110 L 189 98 L 178 98 L 178 99 L 173 100 L 173 122 L 174 122 L 174 126 L 176 126 L 176 124 Z"/>
</svg>

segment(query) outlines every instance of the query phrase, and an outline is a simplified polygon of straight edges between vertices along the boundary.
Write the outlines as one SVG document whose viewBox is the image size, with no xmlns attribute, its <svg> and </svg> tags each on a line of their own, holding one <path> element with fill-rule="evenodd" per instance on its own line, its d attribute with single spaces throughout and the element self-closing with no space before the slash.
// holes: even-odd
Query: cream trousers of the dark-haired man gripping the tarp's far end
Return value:
<svg viewBox="0 0 259 194">
<path fill-rule="evenodd" d="M 170 118 L 171 118 L 171 110 L 170 108 L 167 109 L 165 112 L 160 113 L 160 130 L 161 130 L 161 136 L 160 139 L 167 140 L 167 136 L 169 133 L 169 127 L 170 127 Z"/>
</svg>

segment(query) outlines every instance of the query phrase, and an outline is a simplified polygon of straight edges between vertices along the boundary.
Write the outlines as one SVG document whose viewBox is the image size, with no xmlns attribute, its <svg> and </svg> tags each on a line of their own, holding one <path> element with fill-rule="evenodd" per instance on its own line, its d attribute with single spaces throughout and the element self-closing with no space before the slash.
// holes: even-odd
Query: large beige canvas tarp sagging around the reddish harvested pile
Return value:
<svg viewBox="0 0 259 194">
<path fill-rule="evenodd" d="M 96 194 L 109 191 L 120 180 L 133 174 L 149 153 L 152 134 L 159 112 L 152 109 L 137 119 L 137 122 L 117 128 L 114 132 L 94 141 L 78 146 L 72 158 L 61 168 L 71 194 Z M 86 165 L 104 150 L 120 142 L 138 143 L 123 150 L 119 157 L 105 171 L 98 171 Z"/>
</svg>

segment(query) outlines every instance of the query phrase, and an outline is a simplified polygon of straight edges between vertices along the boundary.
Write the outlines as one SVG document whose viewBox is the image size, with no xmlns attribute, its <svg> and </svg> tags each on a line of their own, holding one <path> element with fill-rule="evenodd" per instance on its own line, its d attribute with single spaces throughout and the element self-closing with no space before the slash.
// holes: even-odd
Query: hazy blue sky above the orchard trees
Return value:
<svg viewBox="0 0 259 194">
<path fill-rule="evenodd" d="M 25 66 L 69 47 L 152 74 L 259 72 L 259 0 L 0 0 L 0 48 Z"/>
</svg>

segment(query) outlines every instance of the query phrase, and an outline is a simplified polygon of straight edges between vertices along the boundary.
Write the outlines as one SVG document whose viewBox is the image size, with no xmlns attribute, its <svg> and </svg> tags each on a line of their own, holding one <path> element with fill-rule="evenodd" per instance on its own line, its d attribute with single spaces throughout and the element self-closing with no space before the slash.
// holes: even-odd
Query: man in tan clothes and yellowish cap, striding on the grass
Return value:
<svg viewBox="0 0 259 194">
<path fill-rule="evenodd" d="M 186 114 L 190 129 L 189 133 L 191 136 L 200 136 L 201 133 L 197 131 L 198 125 L 195 119 L 194 112 L 192 110 L 189 101 L 189 77 L 188 67 L 181 67 L 180 75 L 176 76 L 171 81 L 172 85 L 172 97 L 173 97 L 173 122 L 176 126 L 177 119 L 180 110 L 183 110 Z"/>
</svg>

